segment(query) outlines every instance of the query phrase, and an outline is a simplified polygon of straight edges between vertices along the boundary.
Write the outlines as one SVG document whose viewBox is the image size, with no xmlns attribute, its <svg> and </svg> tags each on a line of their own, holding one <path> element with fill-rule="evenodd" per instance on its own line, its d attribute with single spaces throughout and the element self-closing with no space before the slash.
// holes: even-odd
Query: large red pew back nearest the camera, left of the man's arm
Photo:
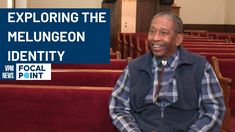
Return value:
<svg viewBox="0 0 235 132">
<path fill-rule="evenodd" d="M 112 87 L 0 84 L 2 132 L 116 132 Z"/>
</svg>

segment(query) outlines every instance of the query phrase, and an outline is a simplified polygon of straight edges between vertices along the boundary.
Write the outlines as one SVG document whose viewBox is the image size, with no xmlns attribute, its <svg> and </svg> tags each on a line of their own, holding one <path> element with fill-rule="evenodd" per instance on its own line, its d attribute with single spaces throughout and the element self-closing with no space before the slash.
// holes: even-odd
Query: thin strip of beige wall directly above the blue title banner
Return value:
<svg viewBox="0 0 235 132">
<path fill-rule="evenodd" d="M 102 0 L 28 0 L 29 8 L 101 8 Z"/>
</svg>

